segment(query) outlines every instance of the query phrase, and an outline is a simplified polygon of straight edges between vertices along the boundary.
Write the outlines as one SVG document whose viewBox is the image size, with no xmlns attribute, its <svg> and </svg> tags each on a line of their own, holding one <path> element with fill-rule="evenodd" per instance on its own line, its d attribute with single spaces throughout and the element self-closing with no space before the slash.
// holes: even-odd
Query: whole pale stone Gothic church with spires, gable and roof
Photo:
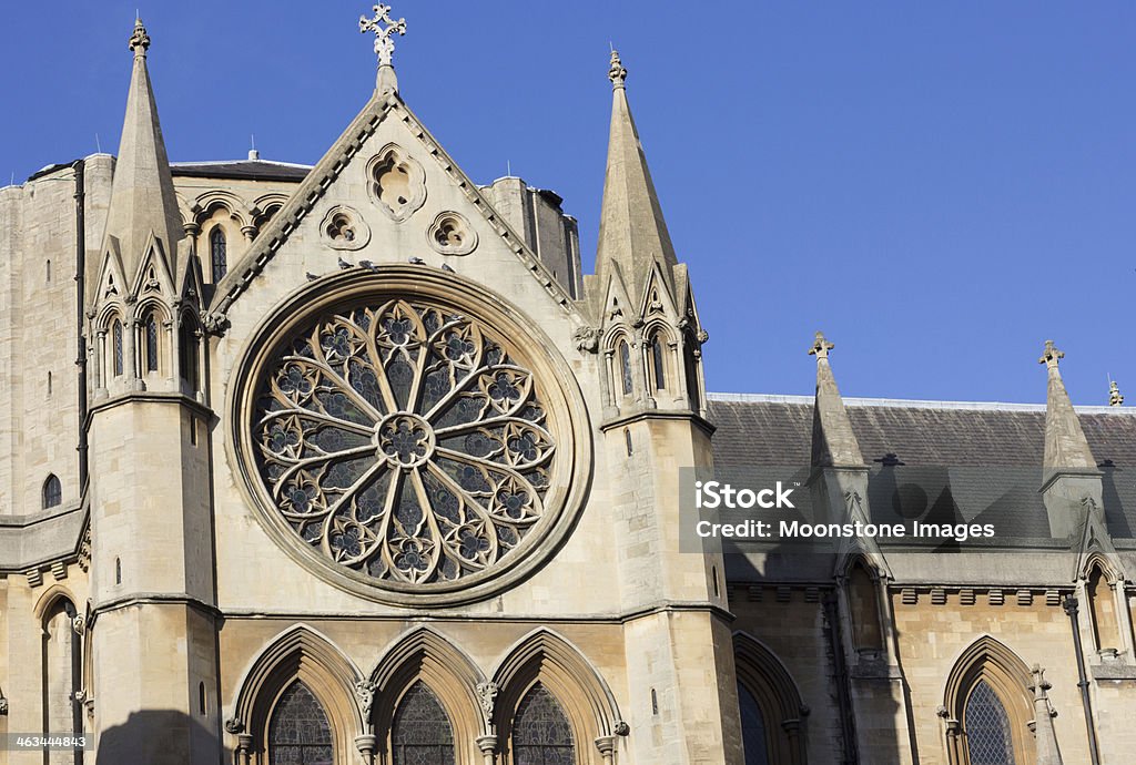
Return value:
<svg viewBox="0 0 1136 765">
<path fill-rule="evenodd" d="M 314 167 L 170 163 L 140 22 L 117 157 L 0 190 L 0 731 L 87 743 L 0 763 L 1126 762 L 1136 419 L 1052 345 L 1039 409 L 845 402 L 822 338 L 815 398 L 708 395 L 618 56 L 584 275 L 377 9 Z M 684 469 L 871 518 L 901 460 L 1035 466 L 1027 549 L 680 550 Z"/>
</svg>

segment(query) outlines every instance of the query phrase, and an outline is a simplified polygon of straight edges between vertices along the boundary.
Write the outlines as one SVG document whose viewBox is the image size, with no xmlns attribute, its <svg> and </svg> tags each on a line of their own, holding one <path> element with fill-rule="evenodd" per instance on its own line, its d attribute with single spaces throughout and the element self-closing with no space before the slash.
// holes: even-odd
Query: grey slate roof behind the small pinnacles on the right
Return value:
<svg viewBox="0 0 1136 765">
<path fill-rule="evenodd" d="M 968 501 L 1018 538 L 1050 536 L 1042 485 L 1045 406 L 845 398 L 852 429 L 871 469 L 872 519 L 894 513 L 958 522 Z M 811 396 L 709 396 L 716 466 L 805 466 L 811 456 Z M 1114 538 L 1136 537 L 1136 409 L 1077 407 L 1104 473 L 1104 505 Z M 888 457 L 887 455 L 894 455 Z M 899 463 L 899 464 L 895 464 Z M 968 499 L 969 497 L 969 499 Z M 982 497 L 979 499 L 979 497 Z M 964 508 L 964 510 L 974 510 Z"/>
</svg>

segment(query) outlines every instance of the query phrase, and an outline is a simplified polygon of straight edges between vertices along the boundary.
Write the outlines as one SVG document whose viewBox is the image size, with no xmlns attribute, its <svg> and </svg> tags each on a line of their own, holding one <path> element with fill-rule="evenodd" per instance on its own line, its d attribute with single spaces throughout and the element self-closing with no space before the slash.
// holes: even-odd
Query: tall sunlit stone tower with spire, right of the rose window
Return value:
<svg viewBox="0 0 1136 765">
<path fill-rule="evenodd" d="M 682 493 L 712 470 L 701 372 L 707 334 L 616 51 L 608 77 L 611 134 L 596 274 L 585 277 L 585 288 L 600 328 L 599 448 L 612 491 L 623 607 L 651 612 L 626 628 L 632 695 L 651 698 L 650 706 L 633 705 L 628 722 L 637 734 L 628 743 L 634 762 L 740 763 L 736 690 L 725 681 L 734 669 L 722 557 L 685 538 L 700 548 L 680 549 L 680 533 L 693 536 L 693 526 L 684 531 Z M 659 603 L 667 605 L 653 607 Z"/>
</svg>

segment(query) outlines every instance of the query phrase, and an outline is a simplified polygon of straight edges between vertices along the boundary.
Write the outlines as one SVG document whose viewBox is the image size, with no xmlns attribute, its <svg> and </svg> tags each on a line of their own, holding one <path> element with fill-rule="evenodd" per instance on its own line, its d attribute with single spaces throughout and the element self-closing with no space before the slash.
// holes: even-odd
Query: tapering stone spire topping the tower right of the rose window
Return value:
<svg viewBox="0 0 1136 765">
<path fill-rule="evenodd" d="M 678 261 L 627 103 L 627 68 L 619 51 L 611 51 L 608 78 L 612 86 L 611 134 L 595 268 L 605 283 L 607 275 L 618 267 L 632 300 L 638 300 L 655 262 L 673 288 L 671 268 Z"/>
</svg>

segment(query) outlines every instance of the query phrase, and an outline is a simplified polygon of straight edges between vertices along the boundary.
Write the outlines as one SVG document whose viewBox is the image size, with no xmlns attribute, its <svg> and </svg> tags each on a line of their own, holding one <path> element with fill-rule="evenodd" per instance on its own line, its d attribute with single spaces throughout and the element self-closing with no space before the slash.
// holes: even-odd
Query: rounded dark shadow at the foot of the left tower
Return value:
<svg viewBox="0 0 1136 765">
<path fill-rule="evenodd" d="M 212 717 L 194 718 L 174 709 L 135 712 L 122 725 L 102 732 L 95 748 L 99 765 L 216 765 L 232 763 Z"/>
</svg>

